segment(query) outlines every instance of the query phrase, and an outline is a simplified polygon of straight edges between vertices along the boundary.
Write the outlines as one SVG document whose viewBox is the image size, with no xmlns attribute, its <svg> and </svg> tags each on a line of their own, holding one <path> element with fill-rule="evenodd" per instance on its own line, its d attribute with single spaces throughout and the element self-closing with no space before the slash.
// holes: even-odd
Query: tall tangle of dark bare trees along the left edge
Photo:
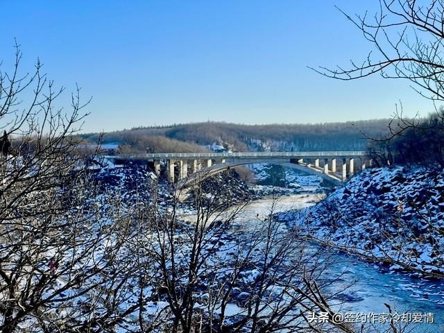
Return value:
<svg viewBox="0 0 444 333">
<path fill-rule="evenodd" d="M 0 72 L 0 330 L 113 331 L 139 304 L 120 293 L 126 223 L 110 221 L 74 137 L 89 101 L 77 87 L 71 110 L 58 108 L 64 89 L 40 61 L 21 75 L 21 59 L 16 44 L 12 71 Z"/>
</svg>

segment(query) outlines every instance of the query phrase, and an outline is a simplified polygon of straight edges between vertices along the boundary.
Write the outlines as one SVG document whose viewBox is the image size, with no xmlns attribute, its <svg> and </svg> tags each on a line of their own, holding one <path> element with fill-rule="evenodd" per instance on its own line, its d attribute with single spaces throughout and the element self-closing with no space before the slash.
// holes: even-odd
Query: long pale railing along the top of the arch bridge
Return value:
<svg viewBox="0 0 444 333">
<path fill-rule="evenodd" d="M 365 151 L 280 151 L 280 152 L 241 152 L 241 153 L 146 153 L 146 154 L 135 154 L 135 155 L 115 155 L 108 156 L 110 158 L 128 158 L 128 159 L 174 159 L 174 158 L 230 158 L 230 157 L 353 157 L 353 156 L 366 156 Z"/>
</svg>

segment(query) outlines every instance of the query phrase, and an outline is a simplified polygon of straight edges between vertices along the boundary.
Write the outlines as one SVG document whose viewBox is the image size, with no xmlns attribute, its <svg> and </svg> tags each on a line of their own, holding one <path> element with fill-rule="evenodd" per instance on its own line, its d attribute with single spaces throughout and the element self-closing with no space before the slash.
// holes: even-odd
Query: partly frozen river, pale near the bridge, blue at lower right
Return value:
<svg viewBox="0 0 444 333">
<path fill-rule="evenodd" d="M 314 205 L 323 197 L 323 194 L 308 191 L 254 200 L 239 214 L 237 222 L 248 225 L 251 221 L 266 218 L 272 206 L 274 213 L 302 209 Z M 194 219 L 193 215 L 182 217 L 190 222 Z M 433 317 L 434 323 L 411 324 L 411 332 L 444 332 L 441 328 L 444 327 L 443 281 L 411 278 L 408 274 L 390 271 L 341 253 L 335 254 L 333 264 L 328 266 L 324 276 L 324 279 L 333 282 L 327 292 L 341 291 L 334 302 L 337 303 L 335 309 L 343 314 L 385 314 L 388 309 L 384 303 L 387 303 L 400 315 L 405 313 L 418 317 L 418 314 L 432 314 L 427 316 L 427 320 Z M 350 284 L 351 287 L 343 291 Z M 422 321 L 425 321 L 425 316 Z"/>
</svg>

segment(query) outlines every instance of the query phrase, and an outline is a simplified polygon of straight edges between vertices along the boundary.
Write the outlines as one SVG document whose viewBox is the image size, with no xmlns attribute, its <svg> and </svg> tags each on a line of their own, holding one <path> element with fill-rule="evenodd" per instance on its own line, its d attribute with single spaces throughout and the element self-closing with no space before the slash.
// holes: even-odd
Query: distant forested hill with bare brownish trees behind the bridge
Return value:
<svg viewBox="0 0 444 333">
<path fill-rule="evenodd" d="M 368 137 L 388 133 L 388 119 L 348 123 L 242 125 L 224 122 L 187 123 L 132 128 L 106 133 L 104 142 L 117 142 L 133 152 L 196 152 L 219 144 L 232 151 L 354 151 L 365 150 Z M 83 135 L 96 142 L 98 133 Z"/>
</svg>

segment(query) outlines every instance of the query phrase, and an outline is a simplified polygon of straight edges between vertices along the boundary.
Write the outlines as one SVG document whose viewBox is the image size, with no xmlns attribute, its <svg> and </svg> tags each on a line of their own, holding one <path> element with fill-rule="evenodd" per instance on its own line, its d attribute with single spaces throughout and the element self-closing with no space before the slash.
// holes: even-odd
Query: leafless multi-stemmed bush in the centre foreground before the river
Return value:
<svg viewBox="0 0 444 333">
<path fill-rule="evenodd" d="M 158 195 L 133 221 L 139 263 L 141 332 L 358 332 L 332 320 L 323 271 L 329 255 L 269 214 L 251 216 L 219 191 L 194 182 L 194 214 L 184 216 L 177 189 Z M 162 187 L 153 189 L 159 194 Z M 330 283 L 330 282 L 328 282 Z M 336 293 L 339 291 L 336 291 Z M 330 321 L 310 323 L 311 313 Z"/>
</svg>

